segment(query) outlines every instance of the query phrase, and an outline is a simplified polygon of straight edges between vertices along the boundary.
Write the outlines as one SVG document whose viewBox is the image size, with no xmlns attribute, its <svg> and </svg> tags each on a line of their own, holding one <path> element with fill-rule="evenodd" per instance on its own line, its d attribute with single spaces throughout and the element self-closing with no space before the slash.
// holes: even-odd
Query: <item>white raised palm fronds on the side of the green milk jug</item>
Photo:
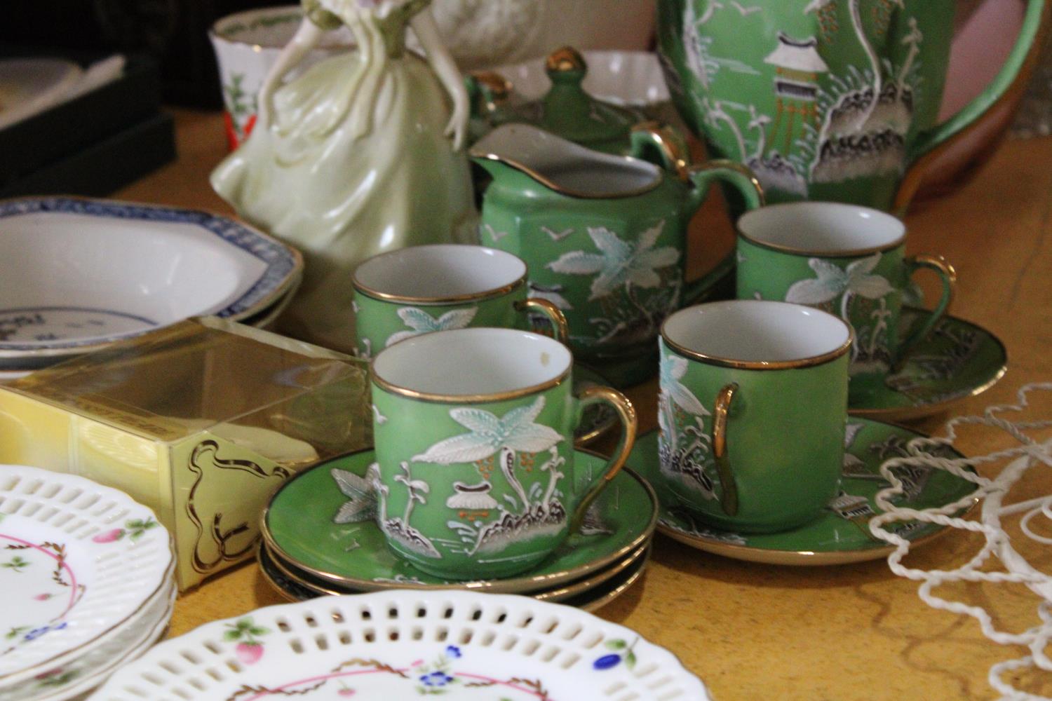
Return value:
<svg viewBox="0 0 1052 701">
<path fill-rule="evenodd" d="M 662 220 L 640 234 L 639 242 L 633 245 L 604 226 L 588 227 L 588 235 L 599 253 L 570 251 L 547 267 L 571 275 L 599 273 L 592 281 L 589 302 L 605 297 L 619 287 L 653 289 L 661 285 L 658 269 L 675 265 L 680 260 L 680 251 L 671 246 L 654 248 L 664 228 L 665 220 Z"/>
</svg>

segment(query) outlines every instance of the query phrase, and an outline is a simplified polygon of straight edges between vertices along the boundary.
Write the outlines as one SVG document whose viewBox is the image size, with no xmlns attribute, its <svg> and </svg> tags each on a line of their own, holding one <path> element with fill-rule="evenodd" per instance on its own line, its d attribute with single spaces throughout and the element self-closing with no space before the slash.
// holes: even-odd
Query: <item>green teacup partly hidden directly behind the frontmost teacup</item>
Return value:
<svg viewBox="0 0 1052 701">
<path fill-rule="evenodd" d="M 369 259 L 355 270 L 358 354 L 432 331 L 467 327 L 528 329 L 547 317 L 560 341 L 566 319 L 555 305 L 526 296 L 526 264 L 483 246 L 413 246 Z"/>
</svg>

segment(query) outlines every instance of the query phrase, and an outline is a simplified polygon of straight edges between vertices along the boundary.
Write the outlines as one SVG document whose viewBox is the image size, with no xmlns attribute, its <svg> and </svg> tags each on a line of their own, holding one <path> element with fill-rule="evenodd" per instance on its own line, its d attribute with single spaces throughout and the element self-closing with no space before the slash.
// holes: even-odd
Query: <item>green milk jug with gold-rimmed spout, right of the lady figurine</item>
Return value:
<svg viewBox="0 0 1052 701">
<path fill-rule="evenodd" d="M 706 289 L 707 281 L 688 285 L 684 273 L 687 225 L 709 186 L 725 181 L 750 209 L 763 204 L 744 166 L 688 166 L 668 132 L 651 126 L 631 140 L 635 156 L 661 167 L 526 124 L 499 127 L 471 149 L 493 179 L 483 199 L 482 244 L 526 261 L 530 296 L 563 312 L 576 357 L 633 369 L 611 377 L 621 386 L 652 374 L 645 359 L 665 316 Z"/>
</svg>

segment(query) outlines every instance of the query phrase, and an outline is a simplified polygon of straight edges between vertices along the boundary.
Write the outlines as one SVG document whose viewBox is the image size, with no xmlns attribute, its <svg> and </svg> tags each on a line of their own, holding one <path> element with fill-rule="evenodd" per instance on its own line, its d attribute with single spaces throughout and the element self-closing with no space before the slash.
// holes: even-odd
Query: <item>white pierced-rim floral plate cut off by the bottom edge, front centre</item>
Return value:
<svg viewBox="0 0 1052 701">
<path fill-rule="evenodd" d="M 120 669 L 95 701 L 287 697 L 699 701 L 668 651 L 590 614 L 520 596 L 376 592 L 202 625 Z"/>
</svg>

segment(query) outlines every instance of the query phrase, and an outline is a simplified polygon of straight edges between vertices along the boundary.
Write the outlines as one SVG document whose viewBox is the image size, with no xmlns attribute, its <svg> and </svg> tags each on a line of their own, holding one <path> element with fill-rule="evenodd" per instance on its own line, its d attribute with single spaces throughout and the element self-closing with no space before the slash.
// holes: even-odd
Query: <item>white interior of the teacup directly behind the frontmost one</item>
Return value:
<svg viewBox="0 0 1052 701">
<path fill-rule="evenodd" d="M 355 282 L 382 294 L 446 300 L 498 290 L 525 274 L 526 264 L 511 253 L 483 246 L 439 244 L 371 257 L 355 270 Z"/>
</svg>

